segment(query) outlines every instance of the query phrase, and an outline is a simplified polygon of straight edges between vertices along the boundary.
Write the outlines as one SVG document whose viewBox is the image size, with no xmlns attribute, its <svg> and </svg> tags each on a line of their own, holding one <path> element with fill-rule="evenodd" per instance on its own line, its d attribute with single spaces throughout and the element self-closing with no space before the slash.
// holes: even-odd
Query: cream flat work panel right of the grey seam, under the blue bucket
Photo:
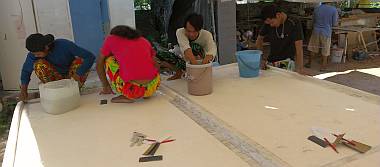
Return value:
<svg viewBox="0 0 380 167">
<path fill-rule="evenodd" d="M 214 92 L 187 93 L 185 80 L 164 85 L 200 105 L 250 140 L 278 166 L 380 166 L 380 98 L 281 70 L 240 78 L 236 64 L 213 69 Z M 339 154 L 309 140 L 311 128 L 346 133 L 372 146 L 366 154 L 338 146 Z"/>
</svg>

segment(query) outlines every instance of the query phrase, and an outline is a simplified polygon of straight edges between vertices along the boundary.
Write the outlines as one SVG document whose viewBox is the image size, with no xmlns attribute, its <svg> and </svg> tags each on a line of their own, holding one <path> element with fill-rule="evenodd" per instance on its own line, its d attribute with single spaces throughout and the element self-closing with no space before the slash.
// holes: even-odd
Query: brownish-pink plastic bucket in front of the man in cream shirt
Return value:
<svg viewBox="0 0 380 167">
<path fill-rule="evenodd" d="M 212 62 L 202 65 L 186 64 L 187 91 L 203 96 L 212 93 Z"/>
</svg>

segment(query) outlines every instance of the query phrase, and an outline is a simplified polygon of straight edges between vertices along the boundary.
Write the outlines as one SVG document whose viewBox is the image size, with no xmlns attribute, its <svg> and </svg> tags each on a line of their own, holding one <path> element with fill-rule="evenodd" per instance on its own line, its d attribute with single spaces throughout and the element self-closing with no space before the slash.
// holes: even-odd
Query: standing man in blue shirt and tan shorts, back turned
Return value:
<svg viewBox="0 0 380 167">
<path fill-rule="evenodd" d="M 332 27 L 338 24 L 338 11 L 334 6 L 322 3 L 314 9 L 313 33 L 310 37 L 308 50 L 311 52 L 306 67 L 311 67 L 311 59 L 314 55 L 321 54 L 321 71 L 327 68 L 327 58 L 330 55 Z"/>
</svg>

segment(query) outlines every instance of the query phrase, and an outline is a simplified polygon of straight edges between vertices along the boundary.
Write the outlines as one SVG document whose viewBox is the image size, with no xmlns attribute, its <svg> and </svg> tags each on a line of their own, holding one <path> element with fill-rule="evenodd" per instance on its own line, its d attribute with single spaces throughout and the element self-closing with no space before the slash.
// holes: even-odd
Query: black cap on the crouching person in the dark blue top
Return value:
<svg viewBox="0 0 380 167">
<path fill-rule="evenodd" d="M 46 47 L 51 50 L 54 47 L 54 36 L 52 34 L 31 34 L 26 38 L 25 44 L 29 52 L 42 52 Z"/>
</svg>

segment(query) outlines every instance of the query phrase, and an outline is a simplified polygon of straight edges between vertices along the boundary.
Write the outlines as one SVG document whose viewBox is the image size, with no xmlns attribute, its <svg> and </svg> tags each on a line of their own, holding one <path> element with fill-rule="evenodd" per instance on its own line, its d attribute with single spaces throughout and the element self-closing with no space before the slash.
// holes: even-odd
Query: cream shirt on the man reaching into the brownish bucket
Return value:
<svg viewBox="0 0 380 167">
<path fill-rule="evenodd" d="M 182 54 L 184 54 L 185 50 L 191 49 L 189 38 L 186 36 L 185 32 L 185 28 L 179 28 L 176 32 L 177 41 L 179 47 L 181 48 Z M 193 42 L 203 47 L 205 55 L 212 55 L 214 57 L 216 56 L 216 44 L 210 32 L 201 29 L 199 31 L 198 38 Z"/>
</svg>

